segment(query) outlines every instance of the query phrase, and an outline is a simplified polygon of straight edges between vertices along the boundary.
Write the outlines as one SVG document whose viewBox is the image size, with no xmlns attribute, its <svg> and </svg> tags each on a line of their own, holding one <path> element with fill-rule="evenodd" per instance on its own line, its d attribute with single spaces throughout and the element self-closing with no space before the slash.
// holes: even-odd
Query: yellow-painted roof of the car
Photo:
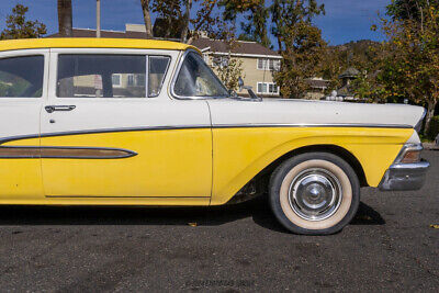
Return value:
<svg viewBox="0 0 439 293">
<path fill-rule="evenodd" d="M 142 48 L 185 50 L 198 48 L 177 42 L 157 40 L 121 40 L 97 37 L 47 37 L 0 41 L 1 50 L 31 48 Z"/>
</svg>

